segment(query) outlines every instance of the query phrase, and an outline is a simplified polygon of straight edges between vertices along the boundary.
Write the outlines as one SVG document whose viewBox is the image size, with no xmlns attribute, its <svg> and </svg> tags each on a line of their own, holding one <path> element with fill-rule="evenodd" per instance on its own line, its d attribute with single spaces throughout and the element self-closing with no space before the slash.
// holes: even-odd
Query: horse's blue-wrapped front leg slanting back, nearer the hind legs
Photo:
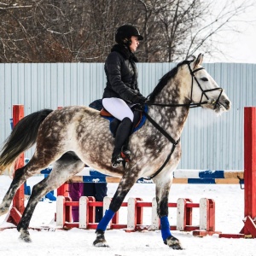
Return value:
<svg viewBox="0 0 256 256">
<path fill-rule="evenodd" d="M 104 236 L 108 223 L 113 218 L 115 212 L 117 212 L 121 207 L 122 202 L 125 200 L 125 195 L 128 194 L 133 184 L 137 181 L 137 177 L 128 177 L 129 172 L 131 172 L 131 170 L 125 170 L 125 175 L 124 177 L 122 177 L 119 183 L 119 187 L 113 195 L 113 199 L 109 205 L 109 209 L 105 212 L 102 220 L 97 225 L 96 240 L 93 242 L 93 245 L 96 247 L 108 247 L 108 243 Z"/>
</svg>

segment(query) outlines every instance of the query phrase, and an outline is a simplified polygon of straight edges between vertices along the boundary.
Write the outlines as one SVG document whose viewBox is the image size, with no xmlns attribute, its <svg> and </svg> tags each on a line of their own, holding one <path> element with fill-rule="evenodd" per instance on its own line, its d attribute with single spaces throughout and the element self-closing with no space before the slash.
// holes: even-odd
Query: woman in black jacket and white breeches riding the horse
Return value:
<svg viewBox="0 0 256 256">
<path fill-rule="evenodd" d="M 112 166 L 120 166 L 123 160 L 130 160 L 131 151 L 125 147 L 131 134 L 133 113 L 131 107 L 143 104 L 146 98 L 137 85 L 137 57 L 133 54 L 139 41 L 143 40 L 137 28 L 131 25 L 119 26 L 111 53 L 105 62 L 107 85 L 102 96 L 103 107 L 111 113 L 120 124 L 115 134 L 112 154 Z"/>
</svg>

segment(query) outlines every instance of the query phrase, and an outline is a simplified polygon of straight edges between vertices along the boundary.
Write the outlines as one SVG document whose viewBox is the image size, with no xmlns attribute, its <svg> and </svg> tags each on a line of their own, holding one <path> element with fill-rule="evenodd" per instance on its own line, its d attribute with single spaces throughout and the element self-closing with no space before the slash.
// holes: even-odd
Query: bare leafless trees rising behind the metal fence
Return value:
<svg viewBox="0 0 256 256">
<path fill-rule="evenodd" d="M 223 3 L 223 2 L 219 2 Z M 220 51 L 218 33 L 253 0 L 7 0 L 0 2 L 0 62 L 102 62 L 116 28 L 130 23 L 144 40 L 140 61 L 180 61 Z"/>
</svg>

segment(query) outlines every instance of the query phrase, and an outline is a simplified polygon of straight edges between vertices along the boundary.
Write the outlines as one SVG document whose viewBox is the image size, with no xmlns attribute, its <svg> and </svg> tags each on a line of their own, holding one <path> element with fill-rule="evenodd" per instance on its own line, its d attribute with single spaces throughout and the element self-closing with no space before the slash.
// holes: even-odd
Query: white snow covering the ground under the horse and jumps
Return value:
<svg viewBox="0 0 256 256">
<path fill-rule="evenodd" d="M 42 177 L 31 177 L 27 184 L 32 186 Z M 0 200 L 3 200 L 10 177 L 0 176 Z M 108 196 L 113 196 L 116 183 L 108 183 Z M 152 201 L 154 184 L 137 183 L 126 196 L 142 197 L 143 201 Z M 169 201 L 176 202 L 178 198 L 189 198 L 199 202 L 202 197 L 210 198 L 216 204 L 216 230 L 223 233 L 238 234 L 243 226 L 244 195 L 240 185 L 234 184 L 173 184 Z M 151 212 L 144 211 L 143 221 L 150 224 Z M 199 224 L 197 209 L 193 210 L 193 224 Z M 255 253 L 254 239 L 218 238 L 218 235 L 195 237 L 192 232 L 172 231 L 184 247 L 183 251 L 174 251 L 167 247 L 160 235 L 160 231 L 125 232 L 124 230 L 107 230 L 106 239 L 110 247 L 93 247 L 95 230 L 57 230 L 54 222 L 55 201 L 40 201 L 32 216 L 30 227 L 49 226 L 50 230 L 29 230 L 32 243 L 19 240 L 19 232 L 12 229 L 0 231 L 0 255 L 97 255 L 97 256 L 130 256 L 130 255 L 246 255 Z M 125 207 L 120 209 L 119 223 L 125 221 Z M 0 217 L 0 228 L 14 226 L 5 221 L 7 214 Z M 123 218 L 123 219 L 122 219 Z M 176 212 L 170 208 L 170 224 L 175 224 Z M 144 223 L 143 223 L 144 224 Z"/>
</svg>

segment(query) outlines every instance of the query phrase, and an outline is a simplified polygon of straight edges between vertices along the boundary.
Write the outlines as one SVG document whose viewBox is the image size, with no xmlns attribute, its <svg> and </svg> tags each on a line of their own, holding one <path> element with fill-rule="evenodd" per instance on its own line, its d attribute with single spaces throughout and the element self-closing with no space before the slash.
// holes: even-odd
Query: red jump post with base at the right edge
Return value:
<svg viewBox="0 0 256 256">
<path fill-rule="evenodd" d="M 225 238 L 256 238 L 256 108 L 244 108 L 244 226 Z"/>
</svg>

